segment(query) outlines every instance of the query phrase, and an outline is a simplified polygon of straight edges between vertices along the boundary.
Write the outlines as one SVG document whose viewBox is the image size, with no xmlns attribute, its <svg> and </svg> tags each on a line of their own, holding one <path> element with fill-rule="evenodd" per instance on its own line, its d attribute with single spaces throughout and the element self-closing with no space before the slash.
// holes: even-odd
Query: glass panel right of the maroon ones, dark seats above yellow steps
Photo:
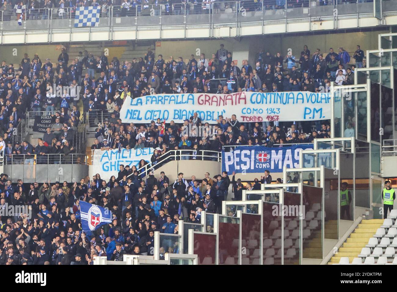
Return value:
<svg viewBox="0 0 397 292">
<path fill-rule="evenodd" d="M 306 259 L 322 259 L 322 192 L 322 188 L 303 186 L 302 253 Z"/>
</svg>

